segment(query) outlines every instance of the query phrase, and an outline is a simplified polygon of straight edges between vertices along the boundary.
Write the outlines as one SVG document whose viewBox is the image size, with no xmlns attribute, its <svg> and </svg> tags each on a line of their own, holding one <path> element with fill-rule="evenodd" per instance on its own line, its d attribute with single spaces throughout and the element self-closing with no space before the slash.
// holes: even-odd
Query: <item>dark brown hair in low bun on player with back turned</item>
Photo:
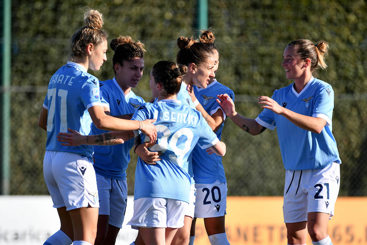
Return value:
<svg viewBox="0 0 367 245">
<path fill-rule="evenodd" d="M 155 83 L 163 86 L 163 96 L 177 94 L 181 89 L 182 76 L 187 72 L 187 66 L 171 61 L 159 61 L 152 68 Z"/>
</svg>

